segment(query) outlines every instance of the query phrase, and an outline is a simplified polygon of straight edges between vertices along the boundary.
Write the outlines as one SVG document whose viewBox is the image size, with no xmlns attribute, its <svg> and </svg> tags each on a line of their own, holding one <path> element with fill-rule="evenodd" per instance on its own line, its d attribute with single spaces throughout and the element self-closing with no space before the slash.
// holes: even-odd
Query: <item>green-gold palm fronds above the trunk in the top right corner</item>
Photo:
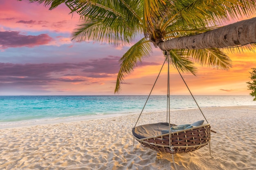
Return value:
<svg viewBox="0 0 256 170">
<path fill-rule="evenodd" d="M 179 29 L 213 28 L 223 21 L 242 17 L 256 12 L 255 0 L 176 0 L 173 1 L 171 13 L 161 26 L 168 32 L 168 26 Z"/>
</svg>

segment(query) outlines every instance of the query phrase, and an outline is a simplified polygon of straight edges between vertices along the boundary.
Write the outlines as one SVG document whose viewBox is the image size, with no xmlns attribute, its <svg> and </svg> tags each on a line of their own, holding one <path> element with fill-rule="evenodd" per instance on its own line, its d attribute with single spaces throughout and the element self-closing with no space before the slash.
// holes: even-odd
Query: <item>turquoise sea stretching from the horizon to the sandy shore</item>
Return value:
<svg viewBox="0 0 256 170">
<path fill-rule="evenodd" d="M 252 96 L 194 96 L 200 107 L 256 105 Z M 86 116 L 140 113 L 148 96 L 0 96 L 0 129 Z M 197 108 L 192 96 L 171 96 L 171 109 Z M 167 96 L 150 96 L 144 112 L 166 111 Z"/>
</svg>

